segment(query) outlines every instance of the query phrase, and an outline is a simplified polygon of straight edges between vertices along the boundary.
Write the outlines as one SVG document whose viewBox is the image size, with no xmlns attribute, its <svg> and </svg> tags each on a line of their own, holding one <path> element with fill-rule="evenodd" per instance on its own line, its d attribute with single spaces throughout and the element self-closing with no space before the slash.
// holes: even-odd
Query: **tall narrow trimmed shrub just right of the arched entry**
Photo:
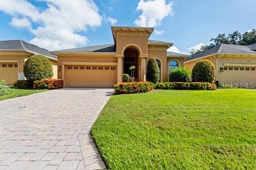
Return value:
<svg viewBox="0 0 256 170">
<path fill-rule="evenodd" d="M 147 72 L 146 72 L 146 80 L 148 82 L 157 83 L 160 79 L 160 70 L 158 68 L 158 64 L 156 59 L 150 58 L 148 60 Z"/>
</svg>

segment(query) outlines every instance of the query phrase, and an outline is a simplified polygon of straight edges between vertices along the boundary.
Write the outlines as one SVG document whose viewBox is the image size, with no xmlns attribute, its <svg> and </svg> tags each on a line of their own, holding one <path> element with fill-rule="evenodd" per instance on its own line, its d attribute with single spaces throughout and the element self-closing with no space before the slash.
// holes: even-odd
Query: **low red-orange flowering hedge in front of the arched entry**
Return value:
<svg viewBox="0 0 256 170">
<path fill-rule="evenodd" d="M 146 93 L 153 88 L 152 82 L 123 82 L 114 85 L 115 94 Z"/>
</svg>

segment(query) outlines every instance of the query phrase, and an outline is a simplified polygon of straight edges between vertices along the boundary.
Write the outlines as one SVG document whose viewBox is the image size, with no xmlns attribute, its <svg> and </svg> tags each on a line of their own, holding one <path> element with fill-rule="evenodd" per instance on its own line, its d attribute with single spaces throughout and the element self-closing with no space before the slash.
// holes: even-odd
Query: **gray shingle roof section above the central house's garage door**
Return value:
<svg viewBox="0 0 256 170">
<path fill-rule="evenodd" d="M 106 44 L 106 45 L 96 45 L 90 47 L 81 47 L 75 49 L 64 49 L 52 52 L 71 52 L 71 53 L 84 53 L 84 52 L 96 52 L 96 53 L 115 53 L 116 45 L 115 44 Z"/>
</svg>

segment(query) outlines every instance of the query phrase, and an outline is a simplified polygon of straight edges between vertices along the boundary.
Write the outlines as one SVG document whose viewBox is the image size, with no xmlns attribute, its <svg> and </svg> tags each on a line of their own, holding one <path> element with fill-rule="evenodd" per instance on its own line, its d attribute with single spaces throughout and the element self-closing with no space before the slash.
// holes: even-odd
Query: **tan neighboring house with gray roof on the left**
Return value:
<svg viewBox="0 0 256 170">
<path fill-rule="evenodd" d="M 23 66 L 32 55 L 44 55 L 52 63 L 53 78 L 57 78 L 57 56 L 35 45 L 22 40 L 0 41 L 0 79 L 13 84 L 16 80 L 24 80 Z"/>
</svg>

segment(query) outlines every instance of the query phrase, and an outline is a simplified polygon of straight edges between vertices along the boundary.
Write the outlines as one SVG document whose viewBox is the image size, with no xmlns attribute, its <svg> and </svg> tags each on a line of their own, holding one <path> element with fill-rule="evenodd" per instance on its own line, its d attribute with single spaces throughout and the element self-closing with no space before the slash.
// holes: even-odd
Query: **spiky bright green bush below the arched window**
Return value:
<svg viewBox="0 0 256 170">
<path fill-rule="evenodd" d="M 169 72 L 170 82 L 190 82 L 190 80 L 191 71 L 188 68 L 178 67 Z"/>
</svg>

